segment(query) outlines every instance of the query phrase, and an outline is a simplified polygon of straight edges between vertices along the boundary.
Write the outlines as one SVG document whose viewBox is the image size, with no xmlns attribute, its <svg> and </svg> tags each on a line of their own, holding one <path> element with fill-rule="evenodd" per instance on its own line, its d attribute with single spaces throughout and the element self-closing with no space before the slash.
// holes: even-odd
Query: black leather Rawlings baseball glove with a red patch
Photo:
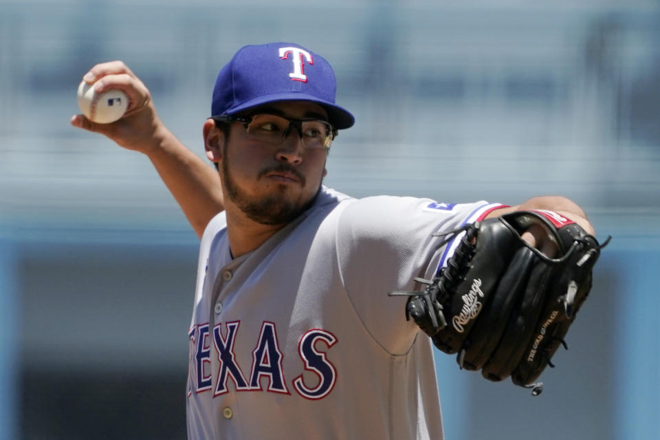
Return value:
<svg viewBox="0 0 660 440">
<path fill-rule="evenodd" d="M 521 238 L 541 225 L 558 248 L 555 258 Z M 423 292 L 410 296 L 412 318 L 436 347 L 458 353 L 461 369 L 542 391 L 533 382 L 562 344 L 591 289 L 600 250 L 595 237 L 551 211 L 518 211 L 450 232 L 459 245 Z M 567 347 L 566 347 L 567 348 Z"/>
</svg>

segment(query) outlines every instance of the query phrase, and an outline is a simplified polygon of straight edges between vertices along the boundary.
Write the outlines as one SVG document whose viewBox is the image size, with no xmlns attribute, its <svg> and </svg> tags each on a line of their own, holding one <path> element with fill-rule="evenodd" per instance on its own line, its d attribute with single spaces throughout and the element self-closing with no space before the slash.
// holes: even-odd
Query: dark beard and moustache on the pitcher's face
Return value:
<svg viewBox="0 0 660 440">
<path fill-rule="evenodd" d="M 226 150 L 225 157 L 227 157 Z M 287 189 L 285 185 L 278 185 L 277 190 L 272 194 L 264 195 L 262 197 L 252 197 L 245 194 L 241 188 L 234 184 L 229 170 L 230 167 L 227 162 L 227 160 L 223 160 L 222 162 L 222 184 L 227 190 L 228 197 L 250 220 L 256 221 L 256 223 L 261 223 L 262 225 L 285 225 L 290 223 L 314 203 L 316 195 L 318 195 L 318 192 L 321 190 L 321 184 L 319 184 L 314 197 L 311 197 L 309 201 L 304 201 L 303 203 L 300 203 L 298 200 L 287 198 Z M 300 179 L 300 184 L 305 186 L 305 176 L 301 175 L 298 170 L 292 166 L 286 164 L 280 164 L 261 170 L 258 178 L 261 178 L 272 171 L 293 173 L 298 179 Z"/>
</svg>

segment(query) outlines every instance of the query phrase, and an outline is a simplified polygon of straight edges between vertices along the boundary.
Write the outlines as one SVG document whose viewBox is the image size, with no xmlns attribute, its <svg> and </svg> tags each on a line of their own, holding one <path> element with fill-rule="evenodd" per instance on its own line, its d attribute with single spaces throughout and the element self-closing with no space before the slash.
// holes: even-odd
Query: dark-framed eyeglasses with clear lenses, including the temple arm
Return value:
<svg viewBox="0 0 660 440">
<path fill-rule="evenodd" d="M 284 142 L 291 127 L 298 130 L 303 146 L 309 149 L 328 149 L 337 135 L 337 130 L 330 122 L 318 119 L 292 119 L 267 113 L 248 116 L 219 115 L 211 116 L 211 119 L 219 122 L 240 122 L 248 131 L 250 140 L 272 145 Z"/>
</svg>

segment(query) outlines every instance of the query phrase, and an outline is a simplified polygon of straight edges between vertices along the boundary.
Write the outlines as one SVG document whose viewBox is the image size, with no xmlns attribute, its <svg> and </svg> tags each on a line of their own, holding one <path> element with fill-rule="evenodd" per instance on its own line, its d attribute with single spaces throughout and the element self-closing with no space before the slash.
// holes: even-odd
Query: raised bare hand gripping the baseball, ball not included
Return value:
<svg viewBox="0 0 660 440">
<path fill-rule="evenodd" d="M 73 126 L 101 133 L 124 148 L 147 155 L 158 147 L 167 129 L 158 118 L 148 89 L 129 67 L 122 61 L 100 63 L 92 67 L 83 80 L 94 85 L 98 93 L 109 89 L 124 91 L 129 97 L 129 107 L 120 120 L 111 124 L 97 124 L 84 115 L 74 115 Z"/>
</svg>

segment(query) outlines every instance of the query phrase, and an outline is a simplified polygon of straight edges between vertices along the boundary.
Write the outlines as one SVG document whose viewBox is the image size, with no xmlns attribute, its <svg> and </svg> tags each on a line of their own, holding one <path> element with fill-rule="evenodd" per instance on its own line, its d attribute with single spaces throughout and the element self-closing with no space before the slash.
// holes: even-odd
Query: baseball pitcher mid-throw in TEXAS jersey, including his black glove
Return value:
<svg viewBox="0 0 660 440">
<path fill-rule="evenodd" d="M 355 119 L 329 63 L 300 45 L 246 46 L 221 69 L 203 122 L 214 168 L 126 65 L 83 79 L 130 103 L 117 122 L 72 124 L 151 159 L 201 236 L 190 439 L 441 439 L 432 347 L 540 393 L 602 248 L 575 203 L 327 188 L 329 150 Z"/>
</svg>

